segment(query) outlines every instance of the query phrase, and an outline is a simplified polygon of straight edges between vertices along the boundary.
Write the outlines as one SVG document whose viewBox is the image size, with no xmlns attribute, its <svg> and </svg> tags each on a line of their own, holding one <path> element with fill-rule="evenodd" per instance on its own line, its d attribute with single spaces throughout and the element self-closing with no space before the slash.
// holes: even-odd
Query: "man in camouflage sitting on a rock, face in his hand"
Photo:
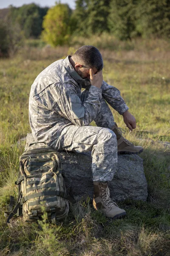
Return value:
<svg viewBox="0 0 170 256">
<path fill-rule="evenodd" d="M 138 154 L 143 148 L 126 140 L 114 122 L 108 104 L 123 116 L 131 131 L 136 128 L 119 90 L 103 81 L 102 68 L 102 55 L 89 45 L 52 63 L 31 86 L 29 119 L 36 141 L 44 141 L 57 151 L 91 151 L 93 205 L 107 217 L 119 218 L 126 212 L 111 200 L 108 189 L 117 153 Z M 89 126 L 93 120 L 96 127 Z"/>
</svg>

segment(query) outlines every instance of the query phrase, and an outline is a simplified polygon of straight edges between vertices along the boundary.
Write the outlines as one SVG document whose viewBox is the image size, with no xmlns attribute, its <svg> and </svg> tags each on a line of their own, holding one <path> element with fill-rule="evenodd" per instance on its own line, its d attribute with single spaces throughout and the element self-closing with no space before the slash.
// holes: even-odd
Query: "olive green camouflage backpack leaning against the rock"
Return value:
<svg viewBox="0 0 170 256">
<path fill-rule="evenodd" d="M 14 198 L 11 197 L 7 223 L 17 213 L 23 215 L 24 221 L 41 220 L 43 209 L 47 212 L 48 221 L 56 223 L 68 215 L 68 200 L 74 202 L 73 196 L 67 194 L 57 151 L 45 143 L 30 144 L 20 156 L 18 180 L 18 200 L 10 212 Z M 70 183 L 69 183 L 70 184 Z M 70 185 L 69 185 L 70 187 Z"/>
</svg>

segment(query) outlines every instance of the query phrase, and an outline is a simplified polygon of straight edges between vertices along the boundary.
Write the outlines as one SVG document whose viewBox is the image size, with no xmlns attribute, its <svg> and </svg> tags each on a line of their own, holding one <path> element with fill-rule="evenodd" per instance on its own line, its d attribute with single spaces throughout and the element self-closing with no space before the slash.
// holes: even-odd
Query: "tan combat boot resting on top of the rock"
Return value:
<svg viewBox="0 0 170 256">
<path fill-rule="evenodd" d="M 118 128 L 117 124 L 112 127 L 112 131 L 117 137 L 117 153 L 118 154 L 140 154 L 143 151 L 141 146 L 134 146 L 129 140 L 126 140 L 122 133 L 125 134 L 125 130 Z"/>
</svg>

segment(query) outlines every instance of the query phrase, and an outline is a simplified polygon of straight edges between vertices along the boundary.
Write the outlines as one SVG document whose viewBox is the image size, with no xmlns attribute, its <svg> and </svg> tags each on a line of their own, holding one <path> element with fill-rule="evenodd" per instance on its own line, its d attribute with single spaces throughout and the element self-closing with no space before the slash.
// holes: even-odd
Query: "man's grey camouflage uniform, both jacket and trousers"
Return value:
<svg viewBox="0 0 170 256">
<path fill-rule="evenodd" d="M 110 129 L 113 115 L 107 101 L 119 114 L 128 110 L 115 87 L 94 87 L 82 79 L 69 57 L 52 63 L 31 86 L 29 119 L 36 141 L 57 151 L 92 151 L 94 181 L 113 179 L 117 163 L 116 135 Z M 81 89 L 85 90 L 81 93 Z M 98 127 L 89 126 L 92 121 Z"/>
</svg>

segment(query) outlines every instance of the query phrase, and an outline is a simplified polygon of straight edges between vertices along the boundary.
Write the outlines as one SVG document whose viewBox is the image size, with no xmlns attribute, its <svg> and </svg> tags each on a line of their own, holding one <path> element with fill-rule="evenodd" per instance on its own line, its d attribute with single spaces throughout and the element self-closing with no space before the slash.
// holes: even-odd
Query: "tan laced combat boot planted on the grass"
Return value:
<svg viewBox="0 0 170 256">
<path fill-rule="evenodd" d="M 107 182 L 94 182 L 93 206 L 96 210 L 101 210 L 106 217 L 120 218 L 126 215 L 110 198 L 110 191 Z"/>
</svg>

